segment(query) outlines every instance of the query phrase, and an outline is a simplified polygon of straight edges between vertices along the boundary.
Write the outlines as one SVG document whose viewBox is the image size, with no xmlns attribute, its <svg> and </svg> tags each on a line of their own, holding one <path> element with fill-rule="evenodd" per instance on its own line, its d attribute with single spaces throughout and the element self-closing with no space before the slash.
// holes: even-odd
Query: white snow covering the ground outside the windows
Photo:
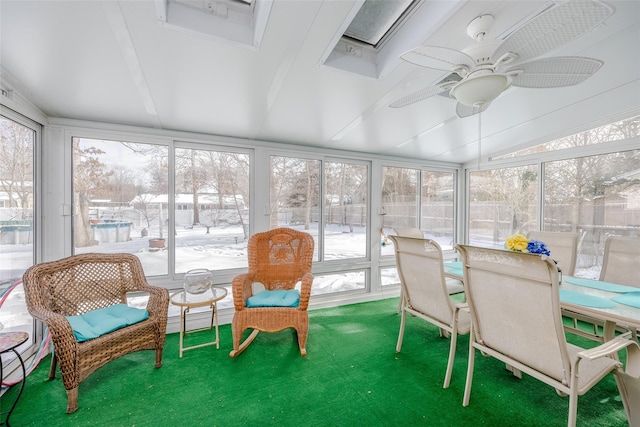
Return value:
<svg viewBox="0 0 640 427">
<path fill-rule="evenodd" d="M 313 223 L 312 229 L 305 230 L 316 238 L 318 235 L 318 224 Z M 315 227 L 315 228 L 314 228 Z M 303 230 L 303 226 L 292 226 Z M 142 237 L 137 229 L 131 230 L 130 240 L 117 243 L 100 243 L 97 246 L 76 248 L 75 253 L 101 252 L 119 253 L 127 252 L 136 254 L 143 265 L 148 276 L 168 274 L 169 252 L 165 249 L 154 250 L 149 247 L 149 239 L 159 236 L 158 230 L 153 230 L 151 235 Z M 175 230 L 175 264 L 176 273 L 182 274 L 195 268 L 208 268 L 210 270 L 246 268 L 247 242 L 241 225 L 224 225 L 211 227 L 207 234 L 204 226 L 178 227 Z M 390 230 L 389 230 L 390 231 Z M 167 228 L 163 230 L 163 237 L 167 238 Z M 444 248 L 450 248 L 451 239 L 426 235 L 432 238 Z M 374 233 L 371 237 L 374 241 L 379 241 L 381 236 Z M 472 242 L 488 246 L 487 242 Z M 367 238 L 365 227 L 354 227 L 350 232 L 348 226 L 328 225 L 324 230 L 324 253 L 326 260 L 352 259 L 366 256 Z M 318 245 L 315 251 L 317 259 Z M 23 271 L 32 264 L 32 245 L 0 245 L 0 295 L 3 290 L 19 279 Z M 393 246 L 382 247 L 382 255 L 393 255 Z M 580 265 L 580 263 L 578 263 Z M 579 268 L 576 276 L 597 279 L 600 267 Z M 384 285 L 398 283 L 398 277 L 394 268 L 382 270 Z M 365 289 L 364 272 L 346 272 L 317 276 L 314 280 L 313 295 L 341 292 L 354 289 Z M 233 306 L 231 292 L 219 303 L 219 308 L 231 308 Z M 177 308 L 173 307 L 175 313 L 170 311 L 170 315 L 178 315 Z M 7 298 L 0 310 L 0 322 L 5 328 L 20 328 L 21 325 L 30 325 L 31 317 L 24 305 L 24 291 L 22 286 L 18 286 Z"/>
</svg>

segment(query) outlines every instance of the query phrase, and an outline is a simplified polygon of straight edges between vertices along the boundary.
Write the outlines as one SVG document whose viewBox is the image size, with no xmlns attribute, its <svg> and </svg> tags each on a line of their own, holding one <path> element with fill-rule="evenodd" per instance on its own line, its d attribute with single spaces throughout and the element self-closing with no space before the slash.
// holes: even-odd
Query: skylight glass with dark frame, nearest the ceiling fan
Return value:
<svg viewBox="0 0 640 427">
<path fill-rule="evenodd" d="M 377 47 L 415 3 L 416 0 L 365 0 L 344 37 Z"/>
</svg>

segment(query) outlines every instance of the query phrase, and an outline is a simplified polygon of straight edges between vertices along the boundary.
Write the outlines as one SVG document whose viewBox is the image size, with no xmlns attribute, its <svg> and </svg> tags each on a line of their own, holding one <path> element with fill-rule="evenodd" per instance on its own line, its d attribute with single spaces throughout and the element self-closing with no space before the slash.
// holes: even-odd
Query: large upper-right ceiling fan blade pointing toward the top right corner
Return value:
<svg viewBox="0 0 640 427">
<path fill-rule="evenodd" d="M 587 33 L 611 13 L 613 9 L 595 0 L 562 3 L 507 36 L 492 58 L 511 52 L 518 55 L 516 62 L 533 59 Z"/>
</svg>

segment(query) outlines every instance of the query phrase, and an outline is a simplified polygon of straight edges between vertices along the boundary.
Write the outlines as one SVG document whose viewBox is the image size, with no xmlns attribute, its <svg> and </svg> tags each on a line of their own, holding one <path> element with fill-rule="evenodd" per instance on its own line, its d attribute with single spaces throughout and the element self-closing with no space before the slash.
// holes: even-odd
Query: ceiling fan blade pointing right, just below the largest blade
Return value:
<svg viewBox="0 0 640 427">
<path fill-rule="evenodd" d="M 525 62 L 505 71 L 520 71 L 513 77 L 513 86 L 551 88 L 582 83 L 602 66 L 603 62 L 579 56 L 557 56 Z"/>
</svg>

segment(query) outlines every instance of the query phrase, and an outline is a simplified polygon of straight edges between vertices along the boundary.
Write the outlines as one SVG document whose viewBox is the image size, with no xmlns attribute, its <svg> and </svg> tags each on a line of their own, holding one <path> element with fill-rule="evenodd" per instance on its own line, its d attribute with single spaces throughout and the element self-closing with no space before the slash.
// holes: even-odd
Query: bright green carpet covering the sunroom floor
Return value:
<svg viewBox="0 0 640 427">
<path fill-rule="evenodd" d="M 230 325 L 222 345 L 178 357 L 167 336 L 163 366 L 153 351 L 115 360 L 80 384 L 80 409 L 66 414 L 60 374 L 47 380 L 50 358 L 27 378 L 11 416 L 14 426 L 565 426 L 569 401 L 504 364 L 476 353 L 471 403 L 462 406 L 468 335 L 458 340 L 451 386 L 442 388 L 449 340 L 408 316 L 395 352 L 397 298 L 310 312 L 307 357 L 295 332 L 260 333 L 235 359 Z M 532 326 L 533 327 L 533 326 Z M 193 344 L 209 331 L 187 336 Z M 570 336 L 574 343 L 594 343 Z M 15 387 L 14 387 L 15 388 Z M 3 410 L 11 390 L 2 398 Z M 579 399 L 579 426 L 625 426 L 612 375 Z"/>
</svg>

